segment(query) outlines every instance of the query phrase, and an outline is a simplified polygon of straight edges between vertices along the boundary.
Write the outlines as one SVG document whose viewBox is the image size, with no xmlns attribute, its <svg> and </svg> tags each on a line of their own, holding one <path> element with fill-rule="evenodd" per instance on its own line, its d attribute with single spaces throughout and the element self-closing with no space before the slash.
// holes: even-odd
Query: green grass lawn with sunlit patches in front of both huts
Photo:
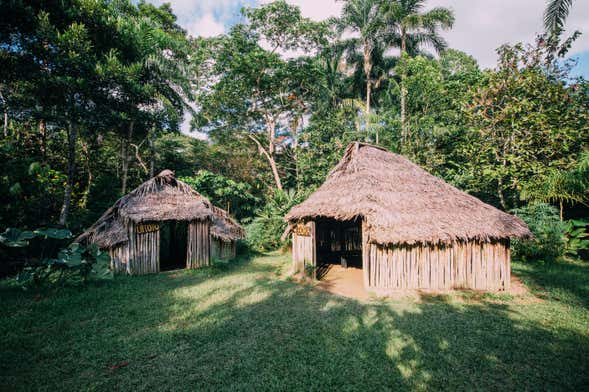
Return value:
<svg viewBox="0 0 589 392">
<path fill-rule="evenodd" d="M 539 299 L 338 297 L 271 254 L 35 298 L 0 285 L 2 390 L 589 389 L 589 267 L 514 263 Z"/>
</svg>

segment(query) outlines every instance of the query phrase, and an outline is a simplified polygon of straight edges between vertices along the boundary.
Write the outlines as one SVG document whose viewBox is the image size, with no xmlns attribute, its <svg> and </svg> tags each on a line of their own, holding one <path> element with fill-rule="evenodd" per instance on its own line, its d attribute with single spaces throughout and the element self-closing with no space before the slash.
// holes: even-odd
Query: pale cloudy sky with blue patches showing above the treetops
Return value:
<svg viewBox="0 0 589 392">
<path fill-rule="evenodd" d="M 271 0 L 150 0 L 170 2 L 178 22 L 193 36 L 215 36 L 242 21 L 240 9 Z M 303 16 L 323 20 L 338 16 L 341 1 L 287 0 L 301 8 Z M 446 7 L 454 11 L 453 28 L 442 33 L 451 48 L 477 59 L 483 68 L 493 67 L 495 49 L 504 43 L 533 42 L 542 32 L 546 0 L 427 0 L 426 9 Z M 589 79 L 589 1 L 576 0 L 566 22 L 567 32 L 581 31 L 569 54 L 578 63 L 573 73 Z M 184 124 L 185 128 L 187 124 Z"/>
</svg>

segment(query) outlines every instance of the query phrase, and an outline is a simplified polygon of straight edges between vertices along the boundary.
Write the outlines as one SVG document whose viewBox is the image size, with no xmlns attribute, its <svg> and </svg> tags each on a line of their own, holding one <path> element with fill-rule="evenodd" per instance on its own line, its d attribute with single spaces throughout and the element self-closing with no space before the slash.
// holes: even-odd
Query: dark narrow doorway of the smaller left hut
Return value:
<svg viewBox="0 0 589 392">
<path fill-rule="evenodd" d="M 160 271 L 186 268 L 188 222 L 160 224 Z"/>
</svg>

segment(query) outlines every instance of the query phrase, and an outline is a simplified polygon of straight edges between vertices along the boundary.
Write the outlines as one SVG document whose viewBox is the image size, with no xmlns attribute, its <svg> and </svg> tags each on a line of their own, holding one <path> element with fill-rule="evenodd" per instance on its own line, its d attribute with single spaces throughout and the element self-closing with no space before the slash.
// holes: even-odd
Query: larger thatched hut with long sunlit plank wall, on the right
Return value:
<svg viewBox="0 0 589 392">
<path fill-rule="evenodd" d="M 293 263 L 356 265 L 371 291 L 505 290 L 510 237 L 525 223 L 402 156 L 348 146 L 325 183 L 286 215 Z"/>
</svg>

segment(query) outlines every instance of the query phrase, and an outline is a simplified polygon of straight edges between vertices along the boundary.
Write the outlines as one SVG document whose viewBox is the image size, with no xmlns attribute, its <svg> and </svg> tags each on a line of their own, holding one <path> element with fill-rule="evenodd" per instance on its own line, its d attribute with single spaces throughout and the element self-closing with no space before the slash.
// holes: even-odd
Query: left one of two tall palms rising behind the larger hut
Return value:
<svg viewBox="0 0 589 392">
<path fill-rule="evenodd" d="M 358 54 L 362 59 L 366 78 L 366 113 L 370 113 L 370 98 L 374 83 L 372 79 L 373 52 L 376 48 L 382 47 L 386 36 L 383 6 L 383 0 L 347 0 L 336 25 L 340 34 L 350 31 L 359 35 L 357 38 L 345 40 L 344 43 L 349 53 Z"/>
</svg>

